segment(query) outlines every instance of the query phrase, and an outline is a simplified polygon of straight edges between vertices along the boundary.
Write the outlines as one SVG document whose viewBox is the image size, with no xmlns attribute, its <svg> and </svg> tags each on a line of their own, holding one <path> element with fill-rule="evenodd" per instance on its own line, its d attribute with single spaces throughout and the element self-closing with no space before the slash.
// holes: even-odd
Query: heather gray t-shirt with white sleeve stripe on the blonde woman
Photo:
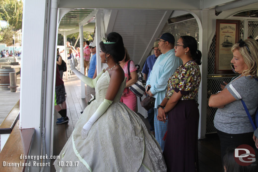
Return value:
<svg viewBox="0 0 258 172">
<path fill-rule="evenodd" d="M 231 81 L 225 88 L 237 100 L 217 110 L 214 117 L 215 128 L 229 134 L 253 132 L 254 129 L 240 99 L 245 102 L 253 118 L 258 105 L 258 82 L 254 78 L 243 76 Z"/>
</svg>

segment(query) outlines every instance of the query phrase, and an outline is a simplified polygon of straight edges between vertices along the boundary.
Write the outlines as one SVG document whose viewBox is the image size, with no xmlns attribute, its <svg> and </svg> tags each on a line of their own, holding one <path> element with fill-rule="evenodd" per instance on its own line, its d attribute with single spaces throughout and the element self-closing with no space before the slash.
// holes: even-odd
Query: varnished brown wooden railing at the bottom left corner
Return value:
<svg viewBox="0 0 258 172">
<path fill-rule="evenodd" d="M 15 104 L 0 126 L 0 171 L 27 171 L 27 168 L 30 166 L 29 161 L 23 155 L 27 156 L 30 153 L 35 129 L 19 128 L 19 111 L 20 100 Z M 6 142 L 4 139 L 6 139 Z"/>
</svg>

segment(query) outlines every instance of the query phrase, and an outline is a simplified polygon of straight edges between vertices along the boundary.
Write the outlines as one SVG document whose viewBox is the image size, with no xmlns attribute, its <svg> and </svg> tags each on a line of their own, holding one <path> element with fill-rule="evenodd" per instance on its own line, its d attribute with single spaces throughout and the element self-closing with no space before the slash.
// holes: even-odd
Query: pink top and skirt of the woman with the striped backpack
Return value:
<svg viewBox="0 0 258 172">
<path fill-rule="evenodd" d="M 123 70 L 125 72 L 125 77 L 126 77 L 126 82 L 129 80 L 129 75 L 128 75 L 128 62 L 124 65 Z M 131 60 L 130 62 L 130 72 L 136 71 L 136 67 L 134 62 Z M 128 108 L 130 108 L 132 111 L 135 112 L 136 110 L 136 104 L 137 104 L 137 98 L 136 95 L 129 89 L 129 88 L 125 88 L 124 89 L 124 95 L 121 97 L 120 99 L 121 102 L 123 102 L 124 104 L 126 104 L 128 106 Z"/>
</svg>

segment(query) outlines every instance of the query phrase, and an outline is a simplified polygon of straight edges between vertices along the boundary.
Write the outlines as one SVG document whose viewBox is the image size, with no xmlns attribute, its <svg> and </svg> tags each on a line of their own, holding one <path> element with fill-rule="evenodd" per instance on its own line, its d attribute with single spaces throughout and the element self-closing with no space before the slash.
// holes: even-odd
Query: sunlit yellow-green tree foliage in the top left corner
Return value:
<svg viewBox="0 0 258 172">
<path fill-rule="evenodd" d="M 0 20 L 7 21 L 13 30 L 17 31 L 22 28 L 22 9 L 23 1 L 21 0 L 0 0 Z"/>
</svg>

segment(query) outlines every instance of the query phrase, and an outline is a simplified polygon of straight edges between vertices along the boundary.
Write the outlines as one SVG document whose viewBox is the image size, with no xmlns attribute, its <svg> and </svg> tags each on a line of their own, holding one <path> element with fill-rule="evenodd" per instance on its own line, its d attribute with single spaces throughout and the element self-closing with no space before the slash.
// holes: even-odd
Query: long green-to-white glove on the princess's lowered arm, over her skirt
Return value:
<svg viewBox="0 0 258 172">
<path fill-rule="evenodd" d="M 104 99 L 104 101 L 99 105 L 96 112 L 91 116 L 91 118 L 86 122 L 86 124 L 82 127 L 82 139 L 85 139 L 88 135 L 88 132 L 91 129 L 91 126 L 94 124 L 94 122 L 99 119 L 99 117 L 106 112 L 108 107 L 111 105 L 113 101 Z"/>
</svg>

